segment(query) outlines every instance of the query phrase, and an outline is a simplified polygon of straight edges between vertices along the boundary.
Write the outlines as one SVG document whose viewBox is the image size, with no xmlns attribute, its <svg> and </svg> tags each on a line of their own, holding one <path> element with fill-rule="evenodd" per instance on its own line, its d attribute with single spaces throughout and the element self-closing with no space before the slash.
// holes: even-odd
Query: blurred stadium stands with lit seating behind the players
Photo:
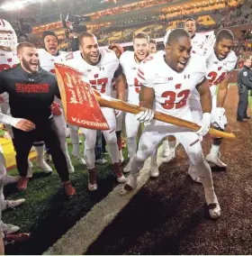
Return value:
<svg viewBox="0 0 252 256">
<path fill-rule="evenodd" d="M 101 46 L 118 42 L 123 47 L 130 47 L 134 33 L 147 32 L 162 49 L 166 31 L 193 17 L 198 32 L 223 27 L 234 32 L 239 67 L 252 50 L 249 0 L 4 0 L 0 15 L 14 25 L 20 41 L 29 37 L 38 48 L 43 31 L 56 32 L 60 49 L 72 50 L 74 35 L 86 30 L 95 34 Z"/>
</svg>

